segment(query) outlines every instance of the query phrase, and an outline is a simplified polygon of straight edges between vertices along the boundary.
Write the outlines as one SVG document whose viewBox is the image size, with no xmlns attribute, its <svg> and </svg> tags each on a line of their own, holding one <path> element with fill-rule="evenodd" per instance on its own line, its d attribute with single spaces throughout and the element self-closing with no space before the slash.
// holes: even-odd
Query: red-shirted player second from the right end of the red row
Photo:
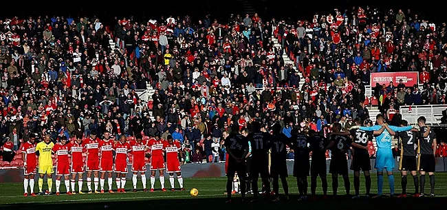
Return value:
<svg viewBox="0 0 447 210">
<path fill-rule="evenodd" d="M 160 174 L 160 184 L 162 185 L 162 191 L 166 191 L 164 188 L 164 157 L 163 157 L 163 139 L 160 138 L 160 133 L 155 134 L 155 138 L 149 139 L 147 146 L 151 148 L 151 192 L 154 191 L 155 174 Z"/>
</svg>

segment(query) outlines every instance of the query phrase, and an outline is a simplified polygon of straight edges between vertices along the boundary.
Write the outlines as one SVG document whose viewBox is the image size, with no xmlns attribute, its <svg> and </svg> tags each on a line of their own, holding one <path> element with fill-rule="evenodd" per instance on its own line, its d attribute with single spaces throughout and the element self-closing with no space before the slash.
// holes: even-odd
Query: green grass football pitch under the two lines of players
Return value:
<svg viewBox="0 0 447 210">
<path fill-rule="evenodd" d="M 377 193 L 376 176 L 373 174 L 371 193 Z M 339 178 L 338 194 L 345 194 L 345 187 L 343 185 L 342 178 Z M 354 193 L 353 182 L 351 177 L 351 194 Z M 0 184 L 0 209 L 41 209 L 41 208 L 61 208 L 61 209 L 126 209 L 138 207 L 138 208 L 188 208 L 188 207 L 208 207 L 210 209 L 228 209 L 228 208 L 239 208 L 243 205 L 243 209 L 263 209 L 263 207 L 273 207 L 273 208 L 285 208 L 290 207 L 289 205 L 297 204 L 301 209 L 302 207 L 310 207 L 310 209 L 328 209 L 330 208 L 345 208 L 345 207 L 356 207 L 362 209 L 377 209 L 377 205 L 388 204 L 388 207 L 401 207 L 402 209 L 415 209 L 416 207 L 423 207 L 423 209 L 429 209 L 433 206 L 439 207 L 439 204 L 447 201 L 447 173 L 436 174 L 436 187 L 435 198 L 382 198 L 382 199 L 367 199 L 360 198 L 360 200 L 351 200 L 350 198 L 344 198 L 340 196 L 336 199 L 325 199 L 317 198 L 317 200 L 307 200 L 305 202 L 298 201 L 298 188 L 296 187 L 296 179 L 294 177 L 287 178 L 290 189 L 290 200 L 283 200 L 280 202 L 269 202 L 268 200 L 263 200 L 262 198 L 257 202 L 248 202 L 248 204 L 240 204 L 240 195 L 234 196 L 232 204 L 225 204 L 224 201 L 226 196 L 223 191 L 226 186 L 226 178 L 187 178 L 184 180 L 184 187 L 186 191 L 167 191 L 162 192 L 157 190 L 154 193 L 138 191 L 136 193 L 131 192 L 131 180 L 127 181 L 127 193 L 103 193 L 103 194 L 83 194 L 83 195 L 65 195 L 65 185 L 62 184 L 60 196 L 36 196 L 36 197 L 23 197 L 23 184 L 22 183 L 1 183 Z M 138 187 L 141 189 L 141 181 L 138 180 Z M 169 188 L 169 182 L 166 178 L 166 188 Z M 107 181 L 106 181 L 107 185 Z M 149 180 L 148 180 L 149 185 Z M 175 180 L 175 185 L 178 187 L 177 180 Z M 328 176 L 329 185 L 329 197 L 332 193 L 331 190 L 331 178 Z M 149 185 L 150 186 L 150 185 Z M 310 182 L 309 182 L 310 186 Z M 395 194 L 398 195 L 402 191 L 400 187 L 400 175 L 395 174 Z M 46 181 L 44 184 L 44 189 L 46 187 Z M 113 189 L 116 185 L 113 180 Z M 107 189 L 107 187 L 105 187 Z M 160 189 L 160 182 L 157 178 L 156 189 Z M 199 196 L 191 197 L 189 190 L 192 188 L 197 188 L 199 190 Z M 38 189 L 37 182 L 34 187 L 35 190 Z M 84 182 L 83 189 L 87 189 L 86 183 Z M 281 189 L 281 183 L 280 183 Z M 426 192 L 430 192 L 430 181 L 427 176 L 426 178 Z M 55 191 L 55 189 L 53 189 Z M 408 178 L 407 191 L 413 193 L 413 179 Z M 280 193 L 283 193 L 282 189 Z M 309 187 L 310 193 L 310 187 Z M 321 182 L 318 178 L 317 194 L 321 195 L 323 191 L 321 190 Z M 364 189 L 364 178 L 360 177 L 360 193 L 365 193 Z M 389 193 L 389 185 L 386 176 L 384 176 L 384 193 Z M 247 200 L 251 199 L 251 196 L 247 196 Z M 236 204 L 236 205 L 235 205 Z M 357 204 L 359 206 L 357 206 Z M 231 205 L 232 207 L 229 207 Z M 354 205 L 354 206 L 352 206 Z M 9 208 L 7 208 L 9 207 Z M 386 207 L 386 206 L 384 206 Z M 129 209 L 130 210 L 130 209 Z"/>
</svg>

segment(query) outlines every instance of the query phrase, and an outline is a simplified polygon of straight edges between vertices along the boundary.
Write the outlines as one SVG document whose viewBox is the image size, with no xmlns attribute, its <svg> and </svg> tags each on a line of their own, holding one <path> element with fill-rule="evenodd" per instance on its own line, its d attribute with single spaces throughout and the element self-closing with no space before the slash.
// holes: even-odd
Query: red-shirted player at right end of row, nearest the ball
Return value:
<svg viewBox="0 0 447 210">
<path fill-rule="evenodd" d="M 185 189 L 183 188 L 181 167 L 184 163 L 182 146 L 180 145 L 178 140 L 173 139 L 173 136 L 168 135 L 167 140 L 164 142 L 163 148 L 164 151 L 166 151 L 166 172 L 169 174 L 171 191 L 175 191 L 174 173 L 177 175 L 177 181 L 179 182 L 180 190 L 184 191 Z"/>
</svg>

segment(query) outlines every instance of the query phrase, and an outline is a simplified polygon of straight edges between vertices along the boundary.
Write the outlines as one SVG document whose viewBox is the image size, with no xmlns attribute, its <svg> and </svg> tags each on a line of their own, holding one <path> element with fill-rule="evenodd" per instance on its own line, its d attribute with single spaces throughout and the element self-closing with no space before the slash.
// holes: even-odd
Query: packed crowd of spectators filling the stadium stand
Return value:
<svg viewBox="0 0 447 210">
<path fill-rule="evenodd" d="M 371 100 L 390 123 L 400 105 L 446 102 L 446 23 L 369 7 L 309 18 L 2 20 L 0 142 L 17 150 L 31 133 L 56 140 L 159 132 L 180 140 L 191 162 L 211 162 L 224 160 L 221 134 L 233 123 L 326 135 L 334 122 L 372 123 Z M 371 72 L 405 71 L 419 72 L 422 90 L 369 84 Z M 151 103 L 135 93 L 147 85 Z"/>
</svg>

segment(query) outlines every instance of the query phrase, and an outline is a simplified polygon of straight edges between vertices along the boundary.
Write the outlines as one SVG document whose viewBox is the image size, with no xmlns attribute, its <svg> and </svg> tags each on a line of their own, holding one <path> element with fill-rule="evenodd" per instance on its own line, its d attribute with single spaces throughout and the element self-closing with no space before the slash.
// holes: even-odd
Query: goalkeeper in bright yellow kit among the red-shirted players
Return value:
<svg viewBox="0 0 447 210">
<path fill-rule="evenodd" d="M 36 145 L 36 154 L 39 156 L 39 191 L 41 191 L 41 194 L 49 195 L 52 193 L 52 174 L 54 173 L 52 159 L 53 147 L 54 143 L 52 143 L 50 135 L 48 134 L 45 135 L 43 141 Z M 47 175 L 48 190 L 44 192 L 43 177 L 45 174 Z"/>
</svg>

